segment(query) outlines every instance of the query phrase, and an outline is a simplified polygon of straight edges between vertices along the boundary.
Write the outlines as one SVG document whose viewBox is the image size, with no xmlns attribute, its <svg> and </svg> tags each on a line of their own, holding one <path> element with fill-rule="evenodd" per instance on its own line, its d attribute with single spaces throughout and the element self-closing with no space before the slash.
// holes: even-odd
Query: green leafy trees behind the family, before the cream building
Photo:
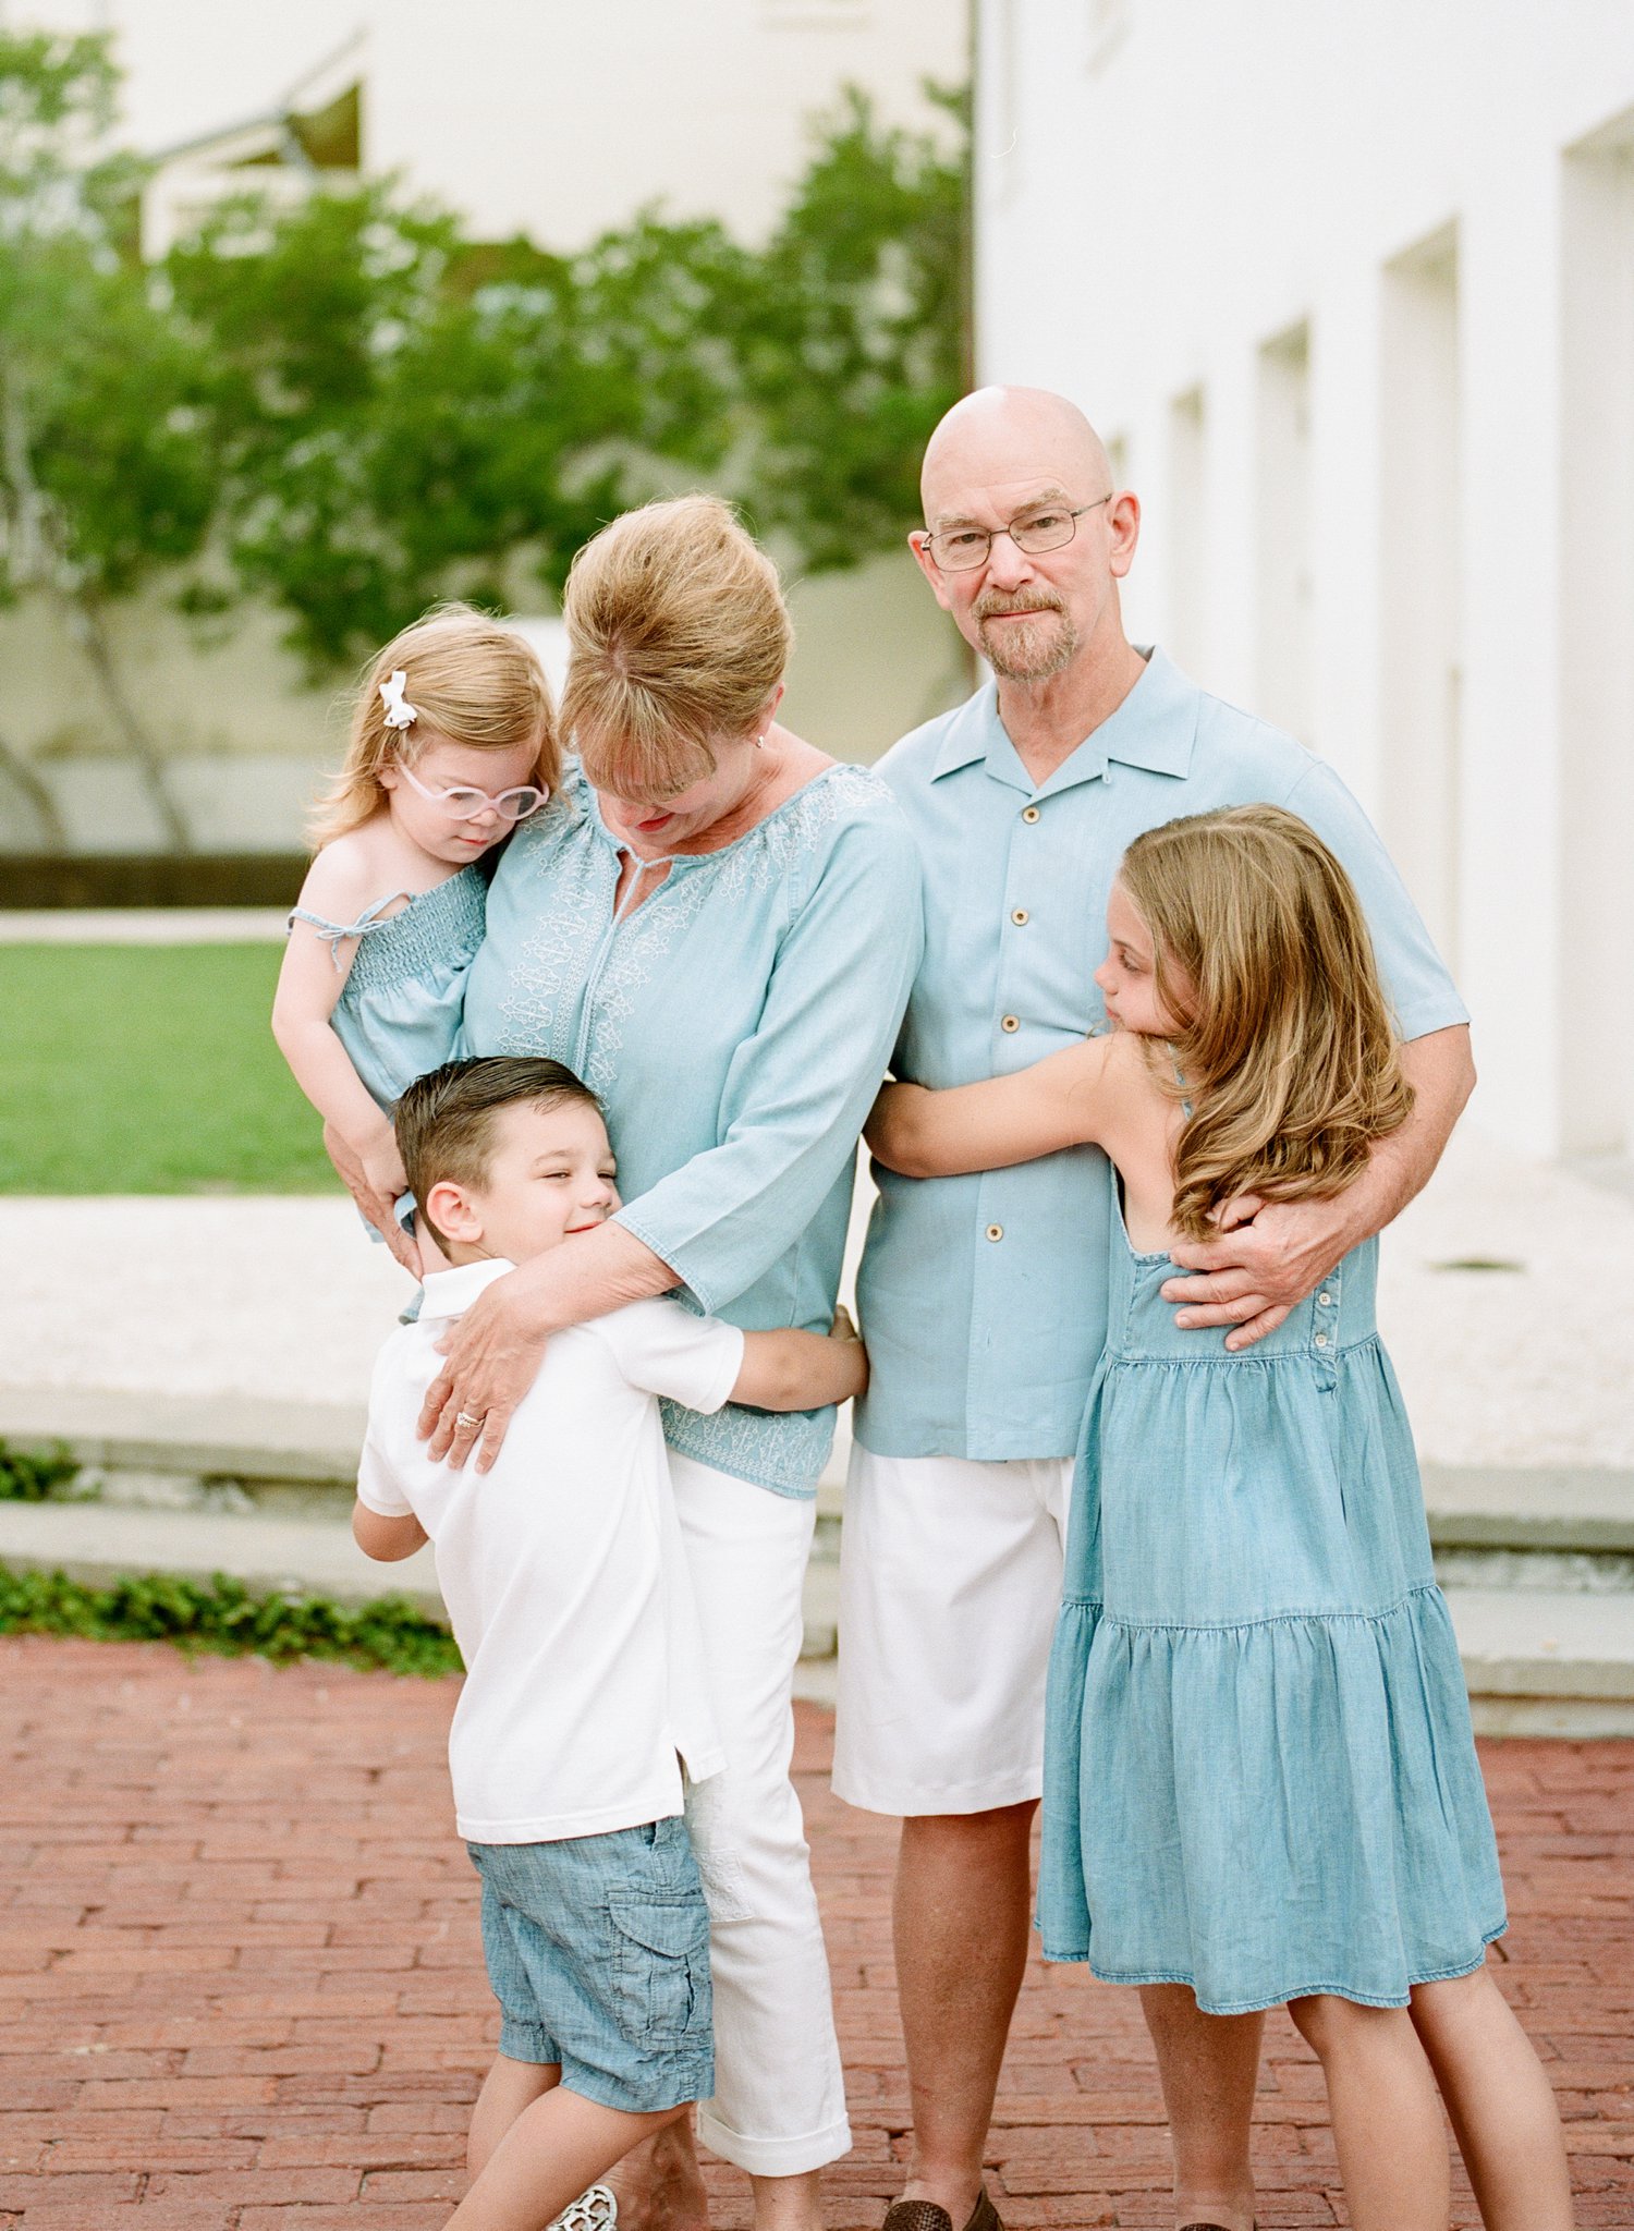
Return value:
<svg viewBox="0 0 1634 2231">
<path fill-rule="evenodd" d="M 473 243 L 393 181 L 219 205 L 158 270 L 100 154 L 105 38 L 0 31 L 0 593 L 71 600 L 172 834 L 100 609 L 270 598 L 315 669 L 438 596 L 558 593 L 607 518 L 699 482 L 799 564 L 913 520 L 962 382 L 964 103 L 848 91 L 761 248 L 645 210 L 580 254 Z"/>
</svg>

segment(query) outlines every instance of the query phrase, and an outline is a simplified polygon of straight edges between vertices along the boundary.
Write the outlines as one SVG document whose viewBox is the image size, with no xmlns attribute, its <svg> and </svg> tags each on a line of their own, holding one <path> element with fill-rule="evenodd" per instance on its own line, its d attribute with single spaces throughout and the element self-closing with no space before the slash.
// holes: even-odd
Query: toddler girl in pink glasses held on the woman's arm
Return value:
<svg viewBox="0 0 1634 2231">
<path fill-rule="evenodd" d="M 455 1051 L 491 854 L 558 776 L 545 669 L 513 629 L 442 605 L 371 665 L 313 817 L 272 1035 L 337 1165 L 400 1211 L 391 1111 Z"/>
</svg>

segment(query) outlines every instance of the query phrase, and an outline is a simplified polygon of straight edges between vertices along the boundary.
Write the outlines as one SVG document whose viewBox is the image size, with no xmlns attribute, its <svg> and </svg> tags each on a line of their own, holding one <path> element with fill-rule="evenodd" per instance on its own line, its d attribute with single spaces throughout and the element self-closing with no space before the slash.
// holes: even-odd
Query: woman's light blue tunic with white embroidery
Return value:
<svg viewBox="0 0 1634 2231">
<path fill-rule="evenodd" d="M 884 783 L 813 776 L 614 919 L 621 846 L 569 765 L 511 839 L 464 999 L 467 1053 L 540 1053 L 600 1093 L 618 1223 L 746 1330 L 826 1332 L 855 1145 L 920 962 L 920 863 Z M 665 1435 L 813 1495 L 833 1410 L 665 1403 Z"/>
</svg>

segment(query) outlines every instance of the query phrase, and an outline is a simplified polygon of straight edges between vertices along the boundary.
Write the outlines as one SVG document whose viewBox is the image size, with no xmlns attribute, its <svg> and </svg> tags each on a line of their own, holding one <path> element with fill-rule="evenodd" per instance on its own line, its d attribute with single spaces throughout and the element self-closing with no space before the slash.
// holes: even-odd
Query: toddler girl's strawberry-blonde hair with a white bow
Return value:
<svg viewBox="0 0 1634 2231">
<path fill-rule="evenodd" d="M 411 727 L 386 727 L 379 685 L 397 669 L 406 676 L 402 694 L 415 707 Z M 551 689 L 534 645 L 471 605 L 435 605 L 371 660 L 353 707 L 346 763 L 308 825 L 313 843 L 333 843 L 373 821 L 386 803 L 379 770 L 393 759 L 413 767 L 438 741 L 480 752 L 534 743 L 538 783 L 554 790 L 560 781 Z"/>
</svg>

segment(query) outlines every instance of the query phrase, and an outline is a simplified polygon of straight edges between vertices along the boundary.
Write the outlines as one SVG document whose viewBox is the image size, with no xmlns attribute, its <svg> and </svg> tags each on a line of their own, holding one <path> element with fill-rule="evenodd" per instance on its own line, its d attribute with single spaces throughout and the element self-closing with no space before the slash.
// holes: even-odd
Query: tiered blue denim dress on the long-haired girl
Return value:
<svg viewBox="0 0 1634 2231">
<path fill-rule="evenodd" d="M 1112 1316 L 1049 1664 L 1038 1921 L 1210 2015 L 1404 2006 L 1505 1930 L 1377 1243 L 1257 1348 L 1181 1332 L 1112 1176 Z"/>
</svg>

